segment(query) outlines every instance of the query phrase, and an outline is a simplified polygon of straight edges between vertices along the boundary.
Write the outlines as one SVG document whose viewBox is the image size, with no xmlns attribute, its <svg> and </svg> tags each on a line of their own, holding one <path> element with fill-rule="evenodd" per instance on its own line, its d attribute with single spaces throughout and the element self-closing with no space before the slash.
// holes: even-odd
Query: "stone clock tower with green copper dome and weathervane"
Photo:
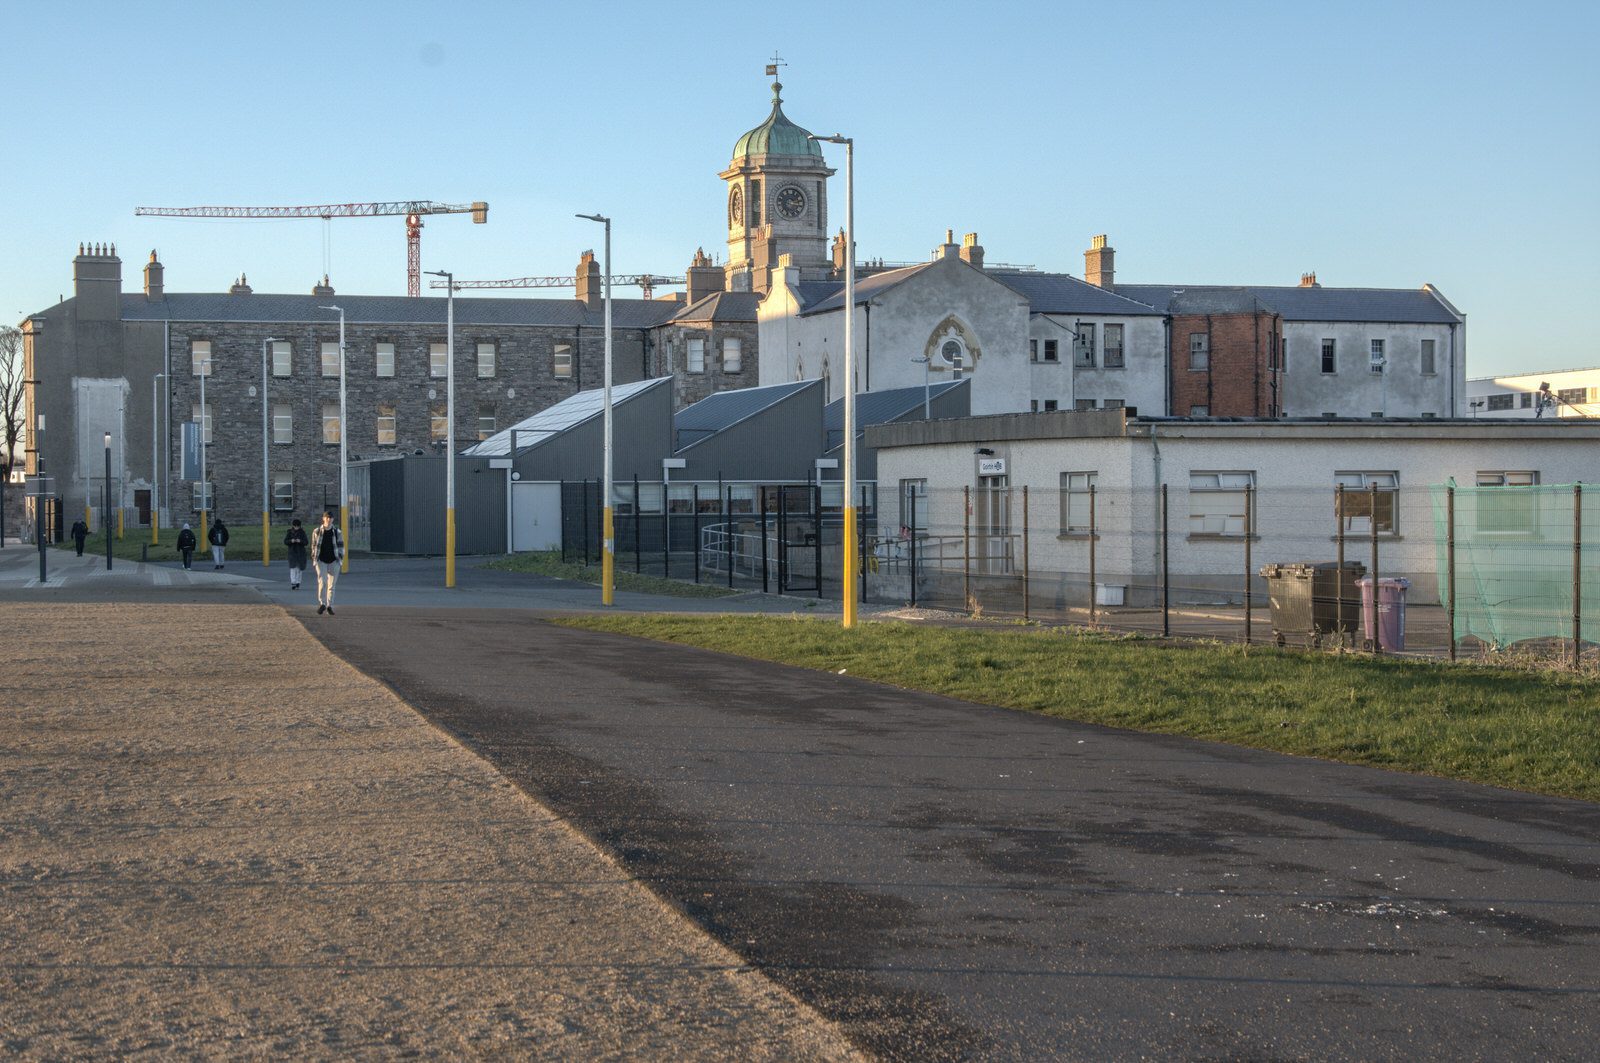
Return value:
<svg viewBox="0 0 1600 1063">
<path fill-rule="evenodd" d="M 728 186 L 728 290 L 766 291 L 778 256 L 792 255 L 802 280 L 832 271 L 827 251 L 827 179 L 822 147 L 784 115 L 773 82 L 773 112 L 739 138 L 718 174 Z"/>
</svg>

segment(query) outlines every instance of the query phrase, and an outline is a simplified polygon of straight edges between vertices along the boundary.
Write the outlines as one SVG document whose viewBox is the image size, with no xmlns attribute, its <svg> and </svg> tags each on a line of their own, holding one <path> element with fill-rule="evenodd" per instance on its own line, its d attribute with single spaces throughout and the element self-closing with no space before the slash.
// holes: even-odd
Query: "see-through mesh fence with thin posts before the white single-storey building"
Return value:
<svg viewBox="0 0 1600 1063">
<path fill-rule="evenodd" d="M 864 596 L 1376 653 L 1518 647 L 1578 663 L 1594 647 L 1582 610 L 1600 610 L 1600 552 L 1582 538 L 1600 536 L 1600 490 L 1251 480 L 902 490 L 862 544 Z"/>
</svg>

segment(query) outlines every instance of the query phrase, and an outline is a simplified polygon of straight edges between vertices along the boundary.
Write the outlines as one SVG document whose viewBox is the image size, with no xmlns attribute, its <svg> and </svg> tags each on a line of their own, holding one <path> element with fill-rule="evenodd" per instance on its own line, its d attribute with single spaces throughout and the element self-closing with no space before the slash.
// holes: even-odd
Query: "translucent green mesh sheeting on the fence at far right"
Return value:
<svg viewBox="0 0 1600 1063">
<path fill-rule="evenodd" d="M 1600 483 L 1451 483 L 1432 493 L 1440 600 L 1446 605 L 1454 533 L 1456 639 L 1493 647 L 1571 639 L 1574 605 L 1584 642 L 1600 639 Z M 1581 591 L 1576 602 L 1574 591 Z"/>
</svg>

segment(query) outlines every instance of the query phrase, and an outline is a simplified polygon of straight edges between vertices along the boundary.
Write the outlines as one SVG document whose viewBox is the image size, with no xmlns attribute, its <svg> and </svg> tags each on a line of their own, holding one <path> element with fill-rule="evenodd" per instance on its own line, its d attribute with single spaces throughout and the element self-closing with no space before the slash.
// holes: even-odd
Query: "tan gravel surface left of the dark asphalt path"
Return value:
<svg viewBox="0 0 1600 1063">
<path fill-rule="evenodd" d="M 856 1058 L 280 610 L 0 623 L 0 1055 Z"/>
</svg>

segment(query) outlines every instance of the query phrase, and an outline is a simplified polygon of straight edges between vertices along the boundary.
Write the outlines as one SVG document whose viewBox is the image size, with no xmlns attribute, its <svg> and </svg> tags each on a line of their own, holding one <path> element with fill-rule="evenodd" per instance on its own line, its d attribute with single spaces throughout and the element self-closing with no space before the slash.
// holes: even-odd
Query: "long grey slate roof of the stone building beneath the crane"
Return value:
<svg viewBox="0 0 1600 1063">
<path fill-rule="evenodd" d="M 125 322 L 338 322 L 323 306 L 344 307 L 349 323 L 443 325 L 443 296 L 400 295 L 229 295 L 226 291 L 174 291 L 162 299 L 123 293 Z M 682 309 L 661 299 L 611 299 L 613 328 L 650 328 Z M 555 325 L 565 328 L 605 325 L 605 307 L 589 309 L 579 299 L 494 299 L 456 296 L 458 325 Z"/>
</svg>

